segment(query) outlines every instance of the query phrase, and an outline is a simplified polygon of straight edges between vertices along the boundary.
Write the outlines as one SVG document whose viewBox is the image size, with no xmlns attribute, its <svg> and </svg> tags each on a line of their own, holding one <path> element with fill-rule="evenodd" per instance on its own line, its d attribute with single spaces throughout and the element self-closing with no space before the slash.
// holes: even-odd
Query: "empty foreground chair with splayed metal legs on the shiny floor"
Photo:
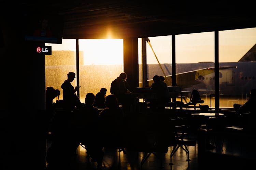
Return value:
<svg viewBox="0 0 256 170">
<path fill-rule="evenodd" d="M 187 161 L 189 159 L 189 150 L 188 146 L 196 146 L 196 138 L 190 136 L 190 128 L 189 128 L 189 120 L 187 118 L 177 118 L 171 119 L 171 132 L 174 132 L 174 141 L 170 143 L 169 147 L 173 146 L 172 152 L 170 154 L 171 162 L 169 165 L 172 164 L 172 156 L 176 153 L 176 151 L 181 147 L 187 154 Z"/>
</svg>

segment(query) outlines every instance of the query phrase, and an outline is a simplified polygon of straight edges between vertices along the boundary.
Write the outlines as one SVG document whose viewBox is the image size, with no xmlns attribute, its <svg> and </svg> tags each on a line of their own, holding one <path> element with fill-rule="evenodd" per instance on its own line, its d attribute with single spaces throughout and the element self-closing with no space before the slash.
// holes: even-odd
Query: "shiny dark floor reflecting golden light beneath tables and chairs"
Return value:
<svg viewBox="0 0 256 170">
<path fill-rule="evenodd" d="M 133 119 L 134 120 L 134 119 Z M 143 122 L 144 116 L 139 119 L 137 117 L 136 119 L 138 122 Z M 129 119 L 131 122 L 131 119 Z M 129 123 L 129 125 L 133 125 L 132 123 Z M 119 127 L 119 126 L 118 126 Z M 120 127 L 119 127 L 120 128 Z M 129 127 L 128 129 L 131 129 Z M 195 137 L 198 137 L 197 134 L 192 134 Z M 240 136 L 239 138 L 241 138 Z M 230 155 L 236 155 L 238 156 L 238 160 L 240 156 L 243 157 L 252 157 L 254 160 L 255 155 L 254 151 L 250 150 L 248 151 L 248 148 L 254 148 L 251 146 L 254 146 L 254 141 L 252 141 L 251 144 L 248 144 L 248 141 L 234 139 L 234 138 L 228 138 L 225 137 L 225 140 L 223 140 L 222 137 L 210 137 L 210 143 L 214 144 L 216 148 L 214 149 L 208 149 L 208 152 L 214 153 L 214 156 L 212 158 L 204 159 L 205 162 L 212 164 L 214 163 L 214 159 L 216 159 L 217 154 L 221 154 L 222 156 L 224 154 L 230 154 Z M 222 147 L 223 142 L 223 147 Z M 245 142 L 245 143 L 244 143 Z M 47 147 L 51 146 L 51 141 L 47 142 Z M 243 148 L 243 147 L 246 148 Z M 64 148 L 63 148 L 64 149 Z M 179 148 L 176 153 L 172 156 L 172 164 L 170 165 L 171 159 L 170 154 L 172 152 L 173 147 L 169 147 L 167 153 L 156 153 L 156 155 L 151 154 L 141 165 L 141 162 L 143 160 L 143 154 L 142 152 L 136 152 L 133 150 L 125 149 L 126 153 L 123 151 L 118 152 L 117 149 L 112 148 L 104 148 L 104 157 L 102 162 L 102 170 L 197 170 L 199 169 L 198 164 L 198 141 L 195 147 L 188 146 L 189 150 L 189 159 L 190 161 L 187 161 L 187 154 L 182 149 Z M 236 163 L 233 162 L 233 158 L 228 156 L 227 164 L 232 164 L 236 166 Z M 226 160 L 226 159 L 223 159 Z M 247 158 L 246 158 L 247 161 Z M 218 165 L 217 163 L 214 163 L 215 166 Z M 96 170 L 97 169 L 97 163 L 91 162 L 91 158 L 88 157 L 86 153 L 86 149 L 83 145 L 80 145 L 77 150 L 76 154 L 72 157 L 72 159 L 69 162 L 63 162 L 62 167 L 65 167 L 66 169 L 71 170 Z M 52 168 L 49 166 L 46 169 Z M 56 168 L 55 168 L 56 169 Z M 63 169 L 63 168 L 61 168 Z M 208 169 L 208 168 L 206 168 Z M 216 169 L 216 168 L 215 168 Z"/>
</svg>

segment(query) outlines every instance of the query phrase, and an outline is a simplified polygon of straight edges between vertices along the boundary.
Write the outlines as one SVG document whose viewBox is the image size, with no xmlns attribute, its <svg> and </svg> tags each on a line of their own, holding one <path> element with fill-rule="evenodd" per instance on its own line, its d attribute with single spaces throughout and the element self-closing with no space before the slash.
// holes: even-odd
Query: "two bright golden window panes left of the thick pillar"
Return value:
<svg viewBox="0 0 256 170">
<path fill-rule="evenodd" d="M 62 44 L 46 44 L 52 46 L 52 55 L 45 56 L 46 87 L 52 86 L 60 90 L 61 84 L 67 80 L 68 72 L 75 72 L 78 78 L 71 84 L 81 86 L 80 101 L 85 102 L 88 92 L 97 94 L 102 87 L 110 94 L 111 82 L 123 72 L 123 39 L 81 39 L 79 40 L 79 73 L 76 72 L 76 40 L 63 39 Z M 55 102 L 55 101 L 54 101 Z"/>
</svg>

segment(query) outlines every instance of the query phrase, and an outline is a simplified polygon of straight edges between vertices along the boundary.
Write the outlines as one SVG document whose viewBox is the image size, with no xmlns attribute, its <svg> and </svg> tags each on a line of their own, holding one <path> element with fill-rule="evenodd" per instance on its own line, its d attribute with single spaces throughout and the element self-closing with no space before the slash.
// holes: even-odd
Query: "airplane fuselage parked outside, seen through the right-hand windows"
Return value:
<svg viewBox="0 0 256 170">
<path fill-rule="evenodd" d="M 156 64 L 150 65 L 151 70 L 157 68 Z M 168 73 L 171 64 L 163 64 Z M 227 62 L 219 63 L 219 90 L 220 94 L 226 96 L 248 96 L 252 88 L 256 88 L 256 62 Z M 155 75 L 163 75 L 160 69 L 152 70 Z M 197 83 L 198 76 L 202 75 L 203 80 Z M 171 86 L 171 75 L 166 75 L 166 83 Z M 186 63 L 176 64 L 176 84 L 182 86 L 182 90 L 191 91 L 193 88 L 201 94 L 214 94 L 214 63 Z M 149 85 L 152 80 L 149 80 Z"/>
</svg>

